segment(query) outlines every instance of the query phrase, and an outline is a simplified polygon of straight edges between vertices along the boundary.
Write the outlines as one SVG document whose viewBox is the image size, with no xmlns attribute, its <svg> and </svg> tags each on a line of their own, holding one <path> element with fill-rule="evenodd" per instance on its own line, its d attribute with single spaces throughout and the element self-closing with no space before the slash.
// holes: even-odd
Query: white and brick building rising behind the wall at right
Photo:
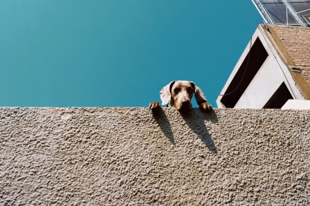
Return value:
<svg viewBox="0 0 310 206">
<path fill-rule="evenodd" d="M 259 24 L 217 106 L 282 108 L 287 100 L 310 100 L 310 28 Z"/>
</svg>

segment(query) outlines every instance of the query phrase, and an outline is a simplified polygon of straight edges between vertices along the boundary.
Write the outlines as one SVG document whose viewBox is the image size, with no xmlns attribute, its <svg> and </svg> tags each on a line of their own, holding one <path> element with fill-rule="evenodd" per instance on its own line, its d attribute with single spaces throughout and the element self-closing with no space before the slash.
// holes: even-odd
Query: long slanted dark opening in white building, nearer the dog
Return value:
<svg viewBox="0 0 310 206">
<path fill-rule="evenodd" d="M 226 89 L 224 96 L 221 98 L 221 103 L 223 103 L 226 108 L 233 108 L 237 104 L 239 98 L 268 57 L 268 53 L 258 37 L 250 49 L 249 60 L 248 57 L 249 53 L 246 55 L 246 58 L 244 58 L 244 62 L 242 62 L 235 77 L 233 77 L 233 80 Z M 248 66 L 246 66 L 247 62 Z"/>
</svg>

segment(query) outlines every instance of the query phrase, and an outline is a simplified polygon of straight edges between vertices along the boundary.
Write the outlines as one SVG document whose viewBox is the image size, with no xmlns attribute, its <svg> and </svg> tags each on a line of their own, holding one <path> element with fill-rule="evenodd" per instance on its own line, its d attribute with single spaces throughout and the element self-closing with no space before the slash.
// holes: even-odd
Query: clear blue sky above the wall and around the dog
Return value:
<svg viewBox="0 0 310 206">
<path fill-rule="evenodd" d="M 182 79 L 217 107 L 259 23 L 250 0 L 1 0 L 0 106 L 148 106 Z"/>
</svg>

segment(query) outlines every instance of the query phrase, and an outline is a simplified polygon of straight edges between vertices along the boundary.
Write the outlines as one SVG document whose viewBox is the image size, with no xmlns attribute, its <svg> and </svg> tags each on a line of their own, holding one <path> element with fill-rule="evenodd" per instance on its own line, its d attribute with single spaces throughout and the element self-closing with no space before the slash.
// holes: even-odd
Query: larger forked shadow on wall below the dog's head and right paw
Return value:
<svg viewBox="0 0 310 206">
<path fill-rule="evenodd" d="M 204 113 L 200 109 L 192 109 L 190 113 L 180 113 L 188 127 L 198 136 L 198 138 L 206 145 L 206 147 L 217 154 L 217 147 L 213 142 L 211 135 L 206 127 L 205 122 L 217 123 L 217 114 L 215 111 Z"/>
</svg>

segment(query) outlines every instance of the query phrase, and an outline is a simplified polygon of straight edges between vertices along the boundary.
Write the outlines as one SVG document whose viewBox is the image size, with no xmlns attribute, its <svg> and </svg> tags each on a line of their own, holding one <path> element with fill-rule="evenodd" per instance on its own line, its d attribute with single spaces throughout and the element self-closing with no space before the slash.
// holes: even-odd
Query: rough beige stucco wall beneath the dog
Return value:
<svg viewBox="0 0 310 206">
<path fill-rule="evenodd" d="M 310 111 L 0 109 L 0 205 L 310 205 Z"/>
</svg>

